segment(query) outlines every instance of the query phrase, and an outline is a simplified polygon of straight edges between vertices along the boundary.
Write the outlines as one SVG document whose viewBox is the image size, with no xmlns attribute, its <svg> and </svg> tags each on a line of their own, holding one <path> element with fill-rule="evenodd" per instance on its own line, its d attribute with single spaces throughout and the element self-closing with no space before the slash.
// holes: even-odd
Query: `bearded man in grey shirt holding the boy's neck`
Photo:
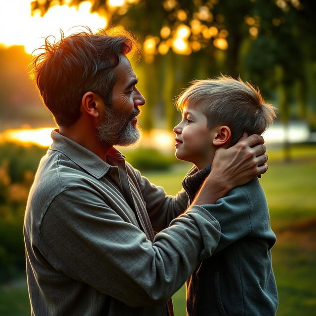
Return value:
<svg viewBox="0 0 316 316">
<path fill-rule="evenodd" d="M 59 129 L 25 214 L 32 315 L 173 315 L 170 297 L 220 237 L 200 205 L 267 170 L 261 136 L 219 151 L 185 210 L 184 192 L 166 196 L 125 162 L 113 145 L 137 140 L 145 104 L 126 57 L 132 46 L 127 36 L 80 33 L 46 42 L 34 61 Z"/>
</svg>

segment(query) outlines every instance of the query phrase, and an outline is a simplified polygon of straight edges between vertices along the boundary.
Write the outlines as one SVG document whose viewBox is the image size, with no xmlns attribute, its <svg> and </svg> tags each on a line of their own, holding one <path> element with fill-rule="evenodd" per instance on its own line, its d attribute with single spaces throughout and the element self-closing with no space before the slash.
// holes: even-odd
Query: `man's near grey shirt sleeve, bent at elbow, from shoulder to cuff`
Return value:
<svg viewBox="0 0 316 316">
<path fill-rule="evenodd" d="M 129 306 L 145 306 L 165 303 L 219 238 L 218 222 L 193 206 L 151 242 L 102 197 L 73 188 L 46 211 L 39 249 L 57 271 Z"/>
</svg>

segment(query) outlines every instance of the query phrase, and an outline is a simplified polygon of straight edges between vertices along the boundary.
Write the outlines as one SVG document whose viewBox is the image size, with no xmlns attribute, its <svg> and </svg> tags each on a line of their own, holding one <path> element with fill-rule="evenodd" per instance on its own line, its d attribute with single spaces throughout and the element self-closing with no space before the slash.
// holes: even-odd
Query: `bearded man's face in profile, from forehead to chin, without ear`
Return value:
<svg viewBox="0 0 316 316">
<path fill-rule="evenodd" d="M 145 99 L 136 88 L 137 78 L 129 60 L 121 55 L 114 70 L 118 80 L 112 90 L 112 105 L 105 105 L 103 120 L 97 126 L 97 136 L 106 145 L 127 146 L 140 137 L 136 116 Z"/>
</svg>

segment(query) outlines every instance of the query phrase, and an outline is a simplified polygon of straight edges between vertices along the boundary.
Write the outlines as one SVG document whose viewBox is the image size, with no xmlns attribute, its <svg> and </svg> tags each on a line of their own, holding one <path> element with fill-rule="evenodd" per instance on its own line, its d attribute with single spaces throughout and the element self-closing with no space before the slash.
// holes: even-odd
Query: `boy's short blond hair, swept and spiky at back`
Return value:
<svg viewBox="0 0 316 316">
<path fill-rule="evenodd" d="M 276 118 L 275 107 L 265 103 L 258 88 L 229 76 L 192 81 L 177 97 L 176 107 L 182 111 L 188 103 L 201 106 L 208 128 L 227 125 L 232 132 L 231 146 L 243 132 L 262 134 Z"/>
</svg>

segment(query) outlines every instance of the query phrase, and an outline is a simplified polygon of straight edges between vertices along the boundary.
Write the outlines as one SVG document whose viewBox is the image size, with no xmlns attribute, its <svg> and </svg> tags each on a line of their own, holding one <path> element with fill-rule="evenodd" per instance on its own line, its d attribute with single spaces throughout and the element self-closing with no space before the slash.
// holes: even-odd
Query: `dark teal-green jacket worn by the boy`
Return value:
<svg viewBox="0 0 316 316">
<path fill-rule="evenodd" d="M 193 168 L 184 179 L 190 201 L 209 171 L 210 167 L 199 172 Z M 278 300 L 270 249 L 276 236 L 258 179 L 202 207 L 220 223 L 221 237 L 214 254 L 187 281 L 188 315 L 275 315 Z"/>
</svg>

